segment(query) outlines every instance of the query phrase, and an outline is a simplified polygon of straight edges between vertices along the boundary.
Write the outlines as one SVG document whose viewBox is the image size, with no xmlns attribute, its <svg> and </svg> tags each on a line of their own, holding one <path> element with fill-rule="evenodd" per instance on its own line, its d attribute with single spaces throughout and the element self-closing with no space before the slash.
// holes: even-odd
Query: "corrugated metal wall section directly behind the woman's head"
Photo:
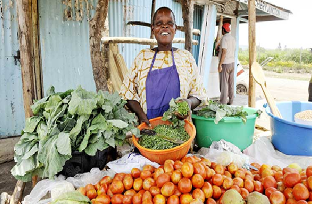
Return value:
<svg viewBox="0 0 312 204">
<path fill-rule="evenodd" d="M 182 10 L 180 3 L 173 0 L 156 0 L 155 10 L 161 6 L 172 9 L 177 25 L 183 25 Z M 150 22 L 151 0 L 111 0 L 109 2 L 109 36 L 144 37 L 149 38 L 150 28 L 139 25 L 127 25 L 128 21 Z M 198 17 L 197 15 L 200 15 Z M 200 7 L 195 6 L 194 27 L 201 27 L 202 12 Z M 125 20 L 124 20 L 125 19 Z M 175 37 L 184 37 L 184 32 L 176 31 Z M 195 37 L 194 37 L 195 38 Z M 139 44 L 119 44 L 119 52 L 123 55 L 127 67 L 129 68 L 137 55 L 149 45 Z M 184 44 L 173 44 L 174 47 L 184 48 Z M 199 45 L 193 46 L 193 55 L 198 59 Z"/>
</svg>

